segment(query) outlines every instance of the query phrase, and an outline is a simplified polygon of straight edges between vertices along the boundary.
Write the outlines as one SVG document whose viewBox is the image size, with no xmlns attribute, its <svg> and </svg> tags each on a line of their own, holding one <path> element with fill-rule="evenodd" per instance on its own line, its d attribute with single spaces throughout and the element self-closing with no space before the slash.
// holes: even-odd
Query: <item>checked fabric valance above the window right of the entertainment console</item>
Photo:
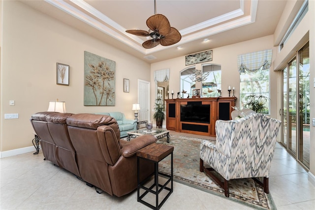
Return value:
<svg viewBox="0 0 315 210">
<path fill-rule="evenodd" d="M 258 70 L 270 68 L 272 50 L 262 50 L 237 56 L 237 66 L 240 73 L 253 74 Z"/>
</svg>

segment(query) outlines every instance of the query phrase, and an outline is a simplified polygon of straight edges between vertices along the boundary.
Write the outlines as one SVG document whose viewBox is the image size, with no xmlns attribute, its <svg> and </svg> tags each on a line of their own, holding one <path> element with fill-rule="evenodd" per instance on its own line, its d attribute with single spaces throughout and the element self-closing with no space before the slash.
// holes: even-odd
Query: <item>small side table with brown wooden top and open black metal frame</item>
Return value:
<svg viewBox="0 0 315 210">
<path fill-rule="evenodd" d="M 137 170 L 138 170 L 138 186 L 137 186 L 137 201 L 146 205 L 147 207 L 150 207 L 151 209 L 158 210 L 161 208 L 161 206 L 165 203 L 166 199 L 170 196 L 170 194 L 173 192 L 173 151 L 174 147 L 160 144 L 160 143 L 153 143 L 150 144 L 142 149 L 139 149 L 137 151 Z M 163 160 L 168 155 L 171 155 L 171 175 L 166 175 L 164 173 L 158 172 L 158 162 Z M 140 182 L 140 158 L 150 160 L 154 162 L 155 172 L 154 172 L 154 183 L 150 188 L 147 188 L 144 186 L 145 182 L 148 181 L 150 177 Z M 158 183 L 158 175 L 162 175 L 164 177 L 168 177 L 167 181 L 162 185 Z M 171 188 L 167 187 L 167 184 L 171 182 Z M 154 190 L 154 187 L 156 189 Z M 158 189 L 160 187 L 160 189 Z M 140 188 L 144 189 L 145 192 L 140 196 Z M 161 201 L 160 204 L 158 204 L 158 194 L 162 190 L 168 190 L 169 192 L 164 197 L 164 199 Z M 142 200 L 142 198 L 148 194 L 148 192 L 151 192 L 156 195 L 156 206 L 153 206 L 145 201 Z"/>
</svg>

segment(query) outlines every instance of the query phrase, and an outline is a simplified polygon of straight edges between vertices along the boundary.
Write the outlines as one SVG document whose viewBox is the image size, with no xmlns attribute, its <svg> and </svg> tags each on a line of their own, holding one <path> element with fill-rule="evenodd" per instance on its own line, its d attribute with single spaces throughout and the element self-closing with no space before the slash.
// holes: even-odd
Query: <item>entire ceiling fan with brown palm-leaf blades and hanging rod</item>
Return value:
<svg viewBox="0 0 315 210">
<path fill-rule="evenodd" d="M 144 30 L 127 30 L 126 32 L 139 36 L 151 36 L 152 39 L 142 43 L 142 46 L 147 49 L 153 48 L 158 44 L 170 46 L 179 42 L 182 35 L 177 29 L 171 27 L 168 19 L 164 15 L 157 14 L 156 0 L 154 0 L 154 14 L 155 15 L 152 15 L 147 20 L 147 26 L 150 29 L 149 32 Z"/>
</svg>

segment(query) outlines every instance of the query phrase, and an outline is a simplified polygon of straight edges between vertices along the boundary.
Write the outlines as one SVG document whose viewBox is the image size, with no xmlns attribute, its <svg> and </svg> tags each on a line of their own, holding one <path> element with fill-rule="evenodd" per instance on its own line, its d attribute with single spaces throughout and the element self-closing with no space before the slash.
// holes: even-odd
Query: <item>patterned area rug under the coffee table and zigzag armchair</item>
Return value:
<svg viewBox="0 0 315 210">
<path fill-rule="evenodd" d="M 224 196 L 224 190 L 205 172 L 201 173 L 199 171 L 199 146 L 201 140 L 202 139 L 172 135 L 170 143 L 166 142 L 166 138 L 158 140 L 157 143 L 174 146 L 174 181 L 226 198 Z M 169 155 L 159 162 L 159 171 L 169 174 L 170 159 L 171 156 Z M 252 178 L 230 180 L 229 198 L 226 199 L 259 210 L 276 209 L 270 192 L 269 194 L 265 194 L 263 187 Z"/>
</svg>

